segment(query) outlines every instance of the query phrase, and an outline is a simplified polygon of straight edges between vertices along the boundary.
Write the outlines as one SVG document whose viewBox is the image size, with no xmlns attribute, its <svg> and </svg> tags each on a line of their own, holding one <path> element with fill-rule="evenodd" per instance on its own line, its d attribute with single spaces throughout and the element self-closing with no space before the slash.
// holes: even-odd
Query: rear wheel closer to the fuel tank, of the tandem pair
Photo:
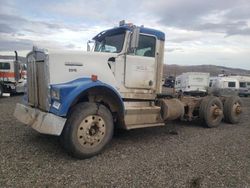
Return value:
<svg viewBox="0 0 250 188">
<path fill-rule="evenodd" d="M 223 104 L 217 97 L 207 97 L 200 105 L 200 118 L 209 128 L 218 127 L 223 118 Z"/>
</svg>

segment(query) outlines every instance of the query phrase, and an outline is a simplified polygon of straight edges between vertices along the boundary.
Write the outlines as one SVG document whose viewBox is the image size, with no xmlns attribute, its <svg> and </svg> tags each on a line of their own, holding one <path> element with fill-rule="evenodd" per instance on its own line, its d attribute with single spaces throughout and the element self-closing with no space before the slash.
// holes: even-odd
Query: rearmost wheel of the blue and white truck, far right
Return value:
<svg viewBox="0 0 250 188">
<path fill-rule="evenodd" d="M 224 103 L 224 120 L 227 123 L 240 122 L 242 115 L 242 100 L 238 96 L 228 97 Z"/>
</svg>

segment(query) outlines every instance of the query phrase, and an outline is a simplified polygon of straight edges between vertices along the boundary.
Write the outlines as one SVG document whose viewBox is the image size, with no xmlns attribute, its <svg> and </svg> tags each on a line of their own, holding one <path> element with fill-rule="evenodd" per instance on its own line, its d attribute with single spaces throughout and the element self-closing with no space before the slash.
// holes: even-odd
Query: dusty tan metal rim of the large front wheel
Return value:
<svg viewBox="0 0 250 188">
<path fill-rule="evenodd" d="M 84 147 L 94 147 L 102 141 L 105 132 L 106 124 L 101 116 L 87 116 L 78 127 L 78 142 Z"/>
</svg>

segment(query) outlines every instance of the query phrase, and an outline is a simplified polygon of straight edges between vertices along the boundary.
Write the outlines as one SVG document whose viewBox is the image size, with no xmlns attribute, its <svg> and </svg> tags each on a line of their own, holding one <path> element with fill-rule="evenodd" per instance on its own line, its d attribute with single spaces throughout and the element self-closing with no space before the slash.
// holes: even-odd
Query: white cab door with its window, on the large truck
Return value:
<svg viewBox="0 0 250 188">
<path fill-rule="evenodd" d="M 154 89 L 156 87 L 156 38 L 140 34 L 134 53 L 126 56 L 125 87 Z"/>
</svg>

